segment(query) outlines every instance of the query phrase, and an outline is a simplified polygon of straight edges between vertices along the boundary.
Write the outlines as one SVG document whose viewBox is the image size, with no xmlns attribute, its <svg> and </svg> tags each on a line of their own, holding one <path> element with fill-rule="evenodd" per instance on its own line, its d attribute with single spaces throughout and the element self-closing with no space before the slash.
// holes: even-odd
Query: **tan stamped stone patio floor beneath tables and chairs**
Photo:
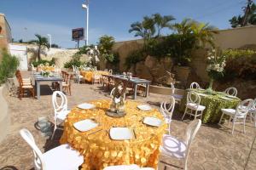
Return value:
<svg viewBox="0 0 256 170">
<path fill-rule="evenodd" d="M 23 75 L 27 77 L 29 74 L 23 72 Z M 59 144 L 61 131 L 58 131 L 54 140 L 50 140 L 43 137 L 35 128 L 35 122 L 39 116 L 47 116 L 50 121 L 53 121 L 51 94 L 51 89 L 47 83 L 42 86 L 40 100 L 30 97 L 20 100 L 6 94 L 11 126 L 8 129 L 8 136 L 0 144 L 0 170 L 33 169 L 32 150 L 20 138 L 19 130 L 22 127 L 27 127 L 32 132 L 42 151 L 49 150 Z M 72 95 L 67 96 L 69 108 L 73 108 L 84 101 L 108 98 L 108 93 L 103 92 L 99 86 L 77 83 L 73 83 Z M 163 99 L 168 99 L 168 96 L 150 94 L 148 98 L 138 97 L 137 101 L 159 108 Z M 176 109 L 172 117 L 172 135 L 179 139 L 183 139 L 184 130 L 190 122 L 189 117 L 181 122 L 181 115 L 182 113 Z M 256 131 L 253 123 L 247 121 L 246 130 L 247 133 L 241 133 L 242 126 L 237 125 L 236 132 L 232 135 L 230 127 L 227 127 L 226 124 L 224 127 L 203 124 L 189 152 L 189 169 L 256 169 Z M 177 163 L 177 161 L 165 156 L 160 156 L 160 161 L 172 165 Z M 164 169 L 163 164 L 160 164 L 160 169 Z M 166 169 L 177 168 L 167 167 Z"/>
</svg>

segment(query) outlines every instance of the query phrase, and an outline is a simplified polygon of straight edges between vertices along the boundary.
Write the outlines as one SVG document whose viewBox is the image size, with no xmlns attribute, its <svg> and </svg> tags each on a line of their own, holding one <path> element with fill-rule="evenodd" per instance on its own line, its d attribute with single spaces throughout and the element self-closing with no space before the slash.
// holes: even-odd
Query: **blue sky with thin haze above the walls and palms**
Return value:
<svg viewBox="0 0 256 170">
<path fill-rule="evenodd" d="M 85 27 L 84 0 L 0 0 L 0 13 L 5 14 L 15 40 L 35 39 L 36 33 L 62 48 L 75 48 L 72 29 Z M 241 14 L 247 0 L 90 0 L 89 43 L 102 35 L 116 42 L 136 39 L 129 33 L 131 23 L 143 16 L 160 13 L 175 17 L 174 22 L 192 18 L 219 29 L 230 28 L 232 16 Z M 165 31 L 166 34 L 171 31 Z M 80 42 L 84 45 L 84 42 Z"/>
</svg>

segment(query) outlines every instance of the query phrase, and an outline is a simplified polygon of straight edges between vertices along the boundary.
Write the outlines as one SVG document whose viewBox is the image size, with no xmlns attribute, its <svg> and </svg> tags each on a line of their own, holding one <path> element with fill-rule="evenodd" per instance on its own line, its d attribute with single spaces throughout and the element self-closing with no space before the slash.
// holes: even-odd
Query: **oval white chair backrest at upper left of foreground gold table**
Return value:
<svg viewBox="0 0 256 170">
<path fill-rule="evenodd" d="M 57 96 L 61 97 L 61 105 L 57 101 Z M 52 105 L 55 110 L 55 118 L 58 113 L 61 111 L 67 111 L 67 97 L 65 94 L 63 94 L 61 91 L 55 91 L 52 94 Z"/>
</svg>

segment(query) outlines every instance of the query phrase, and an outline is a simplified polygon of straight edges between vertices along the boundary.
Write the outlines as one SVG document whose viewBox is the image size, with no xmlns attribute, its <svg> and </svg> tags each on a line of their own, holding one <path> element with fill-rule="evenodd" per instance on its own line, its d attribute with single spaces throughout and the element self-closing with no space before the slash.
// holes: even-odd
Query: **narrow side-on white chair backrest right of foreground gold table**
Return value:
<svg viewBox="0 0 256 170">
<path fill-rule="evenodd" d="M 190 146 L 192 144 L 193 139 L 195 139 L 195 134 L 198 132 L 200 127 L 201 127 L 201 119 L 195 119 L 194 121 L 190 122 L 189 126 L 186 128 L 185 143 L 187 144 L 187 149 L 185 154 L 185 161 L 188 161 Z"/>
</svg>

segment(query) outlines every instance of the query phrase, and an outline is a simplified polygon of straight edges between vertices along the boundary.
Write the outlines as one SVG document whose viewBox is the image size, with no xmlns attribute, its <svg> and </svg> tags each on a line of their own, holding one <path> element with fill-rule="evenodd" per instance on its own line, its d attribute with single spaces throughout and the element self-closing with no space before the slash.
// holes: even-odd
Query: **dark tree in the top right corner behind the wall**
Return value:
<svg viewBox="0 0 256 170">
<path fill-rule="evenodd" d="M 256 4 L 252 0 L 248 0 L 247 6 L 243 7 L 244 14 L 233 16 L 230 19 L 230 25 L 232 28 L 237 26 L 256 25 Z"/>
</svg>

